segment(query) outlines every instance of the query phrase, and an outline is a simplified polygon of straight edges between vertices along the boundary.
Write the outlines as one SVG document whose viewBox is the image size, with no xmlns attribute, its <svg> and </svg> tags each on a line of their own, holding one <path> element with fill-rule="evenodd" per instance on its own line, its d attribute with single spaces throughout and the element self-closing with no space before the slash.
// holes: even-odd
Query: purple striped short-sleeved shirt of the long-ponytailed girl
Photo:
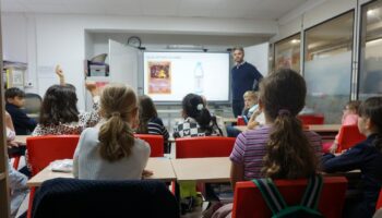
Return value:
<svg viewBox="0 0 382 218">
<path fill-rule="evenodd" d="M 272 125 L 264 125 L 252 131 L 241 133 L 235 142 L 229 159 L 232 162 L 244 166 L 244 179 L 261 178 L 261 169 L 264 166 L 266 143 L 272 131 Z M 321 136 L 314 132 L 306 131 L 306 135 L 318 156 L 321 157 Z"/>
</svg>

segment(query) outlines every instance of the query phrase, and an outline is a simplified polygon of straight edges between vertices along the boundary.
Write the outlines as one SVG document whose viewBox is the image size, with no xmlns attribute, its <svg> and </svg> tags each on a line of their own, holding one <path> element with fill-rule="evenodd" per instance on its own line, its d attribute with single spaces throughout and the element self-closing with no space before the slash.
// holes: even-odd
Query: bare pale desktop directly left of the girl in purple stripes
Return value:
<svg viewBox="0 0 382 218">
<path fill-rule="evenodd" d="M 178 181 L 229 182 L 228 157 L 171 159 Z"/>
</svg>

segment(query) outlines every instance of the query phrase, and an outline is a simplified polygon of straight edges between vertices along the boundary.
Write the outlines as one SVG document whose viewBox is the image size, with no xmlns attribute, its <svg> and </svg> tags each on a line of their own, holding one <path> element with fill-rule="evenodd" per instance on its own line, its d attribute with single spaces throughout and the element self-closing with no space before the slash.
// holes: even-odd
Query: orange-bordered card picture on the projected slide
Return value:
<svg viewBox="0 0 382 218">
<path fill-rule="evenodd" d="M 171 62 L 148 61 L 148 94 L 171 94 Z"/>
</svg>

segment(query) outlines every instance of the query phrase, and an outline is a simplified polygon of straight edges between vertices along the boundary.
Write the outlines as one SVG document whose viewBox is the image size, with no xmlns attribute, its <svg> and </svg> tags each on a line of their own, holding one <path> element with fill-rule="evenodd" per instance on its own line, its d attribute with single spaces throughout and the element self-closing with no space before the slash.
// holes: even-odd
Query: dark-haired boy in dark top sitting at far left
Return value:
<svg viewBox="0 0 382 218">
<path fill-rule="evenodd" d="M 24 90 L 12 87 L 5 90 L 5 110 L 11 114 L 16 135 L 29 135 L 36 128 L 36 121 L 29 118 L 21 108 L 25 102 Z"/>
</svg>

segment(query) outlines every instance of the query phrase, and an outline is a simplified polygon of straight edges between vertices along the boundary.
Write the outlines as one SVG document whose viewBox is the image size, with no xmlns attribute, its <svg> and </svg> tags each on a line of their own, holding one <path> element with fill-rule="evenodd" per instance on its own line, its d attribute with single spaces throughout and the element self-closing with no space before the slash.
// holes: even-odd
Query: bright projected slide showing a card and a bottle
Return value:
<svg viewBox="0 0 382 218">
<path fill-rule="evenodd" d="M 229 99 L 229 55 L 144 52 L 144 94 L 154 101 L 181 101 L 189 93 L 208 101 Z"/>
</svg>

